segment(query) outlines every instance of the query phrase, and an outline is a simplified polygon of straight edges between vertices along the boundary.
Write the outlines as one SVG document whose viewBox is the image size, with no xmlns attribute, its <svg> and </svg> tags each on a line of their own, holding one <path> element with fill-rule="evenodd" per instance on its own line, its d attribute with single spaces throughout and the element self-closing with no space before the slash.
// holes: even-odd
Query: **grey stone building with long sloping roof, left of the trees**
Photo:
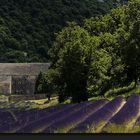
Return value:
<svg viewBox="0 0 140 140">
<path fill-rule="evenodd" d="M 33 95 L 40 72 L 46 72 L 49 63 L 0 63 L 0 93 Z"/>
</svg>

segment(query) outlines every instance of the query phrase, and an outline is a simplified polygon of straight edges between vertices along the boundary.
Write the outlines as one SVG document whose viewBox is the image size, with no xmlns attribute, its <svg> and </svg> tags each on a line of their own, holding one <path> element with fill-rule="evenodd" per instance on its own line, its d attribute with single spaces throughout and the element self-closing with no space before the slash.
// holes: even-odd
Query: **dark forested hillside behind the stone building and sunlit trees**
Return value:
<svg viewBox="0 0 140 140">
<path fill-rule="evenodd" d="M 123 2 L 123 1 L 122 1 Z M 0 62 L 47 62 L 56 33 L 75 21 L 104 15 L 117 0 L 0 1 Z"/>
</svg>

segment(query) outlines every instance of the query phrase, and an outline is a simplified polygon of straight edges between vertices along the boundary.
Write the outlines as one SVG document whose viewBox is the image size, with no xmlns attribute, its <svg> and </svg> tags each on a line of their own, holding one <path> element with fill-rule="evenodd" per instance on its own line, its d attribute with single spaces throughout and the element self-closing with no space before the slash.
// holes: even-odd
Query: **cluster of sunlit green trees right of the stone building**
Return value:
<svg viewBox="0 0 140 140">
<path fill-rule="evenodd" d="M 47 92 L 56 92 L 60 102 L 115 97 L 136 89 L 139 40 L 139 0 L 129 0 L 106 15 L 84 20 L 82 25 L 71 22 L 58 33 L 49 51 L 52 63 L 47 74 L 40 74 L 40 89 L 44 86 Z"/>
</svg>

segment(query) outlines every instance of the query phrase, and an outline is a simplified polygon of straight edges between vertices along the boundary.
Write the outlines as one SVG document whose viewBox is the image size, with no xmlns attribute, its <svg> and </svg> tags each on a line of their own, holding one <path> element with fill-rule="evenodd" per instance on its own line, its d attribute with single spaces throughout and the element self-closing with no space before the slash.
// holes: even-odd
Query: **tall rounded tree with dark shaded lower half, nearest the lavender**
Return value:
<svg viewBox="0 0 140 140">
<path fill-rule="evenodd" d="M 60 73 L 59 98 L 72 97 L 72 102 L 88 99 L 86 54 L 89 43 L 88 33 L 75 23 L 69 24 L 57 37 L 53 49 L 54 67 Z M 59 47 L 61 46 L 61 47 Z M 54 61 L 53 61 L 54 62 Z M 61 100 L 61 99 L 60 99 Z"/>
</svg>

